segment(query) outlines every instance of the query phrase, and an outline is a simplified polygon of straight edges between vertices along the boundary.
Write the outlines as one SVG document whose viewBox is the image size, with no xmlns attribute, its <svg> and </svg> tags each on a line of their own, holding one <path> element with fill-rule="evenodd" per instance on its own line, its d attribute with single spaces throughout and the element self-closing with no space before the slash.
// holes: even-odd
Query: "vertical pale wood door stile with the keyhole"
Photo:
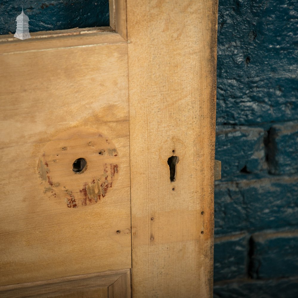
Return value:
<svg viewBox="0 0 298 298">
<path fill-rule="evenodd" d="M 127 0 L 134 298 L 212 297 L 216 24 L 216 0 Z"/>
</svg>

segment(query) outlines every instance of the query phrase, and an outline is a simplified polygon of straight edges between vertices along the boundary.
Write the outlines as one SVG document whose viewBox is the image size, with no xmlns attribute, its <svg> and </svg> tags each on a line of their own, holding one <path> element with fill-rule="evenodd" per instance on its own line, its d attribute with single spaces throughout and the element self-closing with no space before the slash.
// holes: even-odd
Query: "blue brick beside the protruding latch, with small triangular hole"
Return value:
<svg viewBox="0 0 298 298">
<path fill-rule="evenodd" d="M 257 173 L 265 162 L 264 131 L 260 128 L 217 128 L 215 158 L 221 160 L 223 178 Z"/>
</svg>

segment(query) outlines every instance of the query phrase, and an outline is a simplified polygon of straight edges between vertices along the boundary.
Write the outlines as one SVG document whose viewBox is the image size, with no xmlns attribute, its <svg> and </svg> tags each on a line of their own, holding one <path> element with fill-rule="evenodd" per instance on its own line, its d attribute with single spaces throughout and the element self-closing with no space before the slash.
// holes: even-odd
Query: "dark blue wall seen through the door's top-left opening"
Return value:
<svg viewBox="0 0 298 298">
<path fill-rule="evenodd" d="M 108 0 L 51 0 L 0 2 L 0 35 L 15 33 L 16 17 L 22 11 L 29 17 L 29 31 L 109 26 Z"/>
</svg>

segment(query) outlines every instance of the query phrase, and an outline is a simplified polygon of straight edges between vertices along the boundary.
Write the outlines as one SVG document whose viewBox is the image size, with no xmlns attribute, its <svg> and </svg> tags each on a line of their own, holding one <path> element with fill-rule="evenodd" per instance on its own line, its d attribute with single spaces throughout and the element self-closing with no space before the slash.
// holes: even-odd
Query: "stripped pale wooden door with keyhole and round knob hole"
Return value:
<svg viewBox="0 0 298 298">
<path fill-rule="evenodd" d="M 0 39 L 1 297 L 211 297 L 217 1 Z"/>
</svg>

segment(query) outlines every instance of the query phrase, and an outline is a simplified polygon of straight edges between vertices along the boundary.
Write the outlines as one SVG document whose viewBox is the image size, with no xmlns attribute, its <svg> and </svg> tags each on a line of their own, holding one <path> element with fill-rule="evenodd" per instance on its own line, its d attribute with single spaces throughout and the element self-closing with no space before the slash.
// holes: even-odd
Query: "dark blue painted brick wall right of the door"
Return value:
<svg viewBox="0 0 298 298">
<path fill-rule="evenodd" d="M 219 0 L 214 297 L 298 297 L 298 1 Z"/>
</svg>

